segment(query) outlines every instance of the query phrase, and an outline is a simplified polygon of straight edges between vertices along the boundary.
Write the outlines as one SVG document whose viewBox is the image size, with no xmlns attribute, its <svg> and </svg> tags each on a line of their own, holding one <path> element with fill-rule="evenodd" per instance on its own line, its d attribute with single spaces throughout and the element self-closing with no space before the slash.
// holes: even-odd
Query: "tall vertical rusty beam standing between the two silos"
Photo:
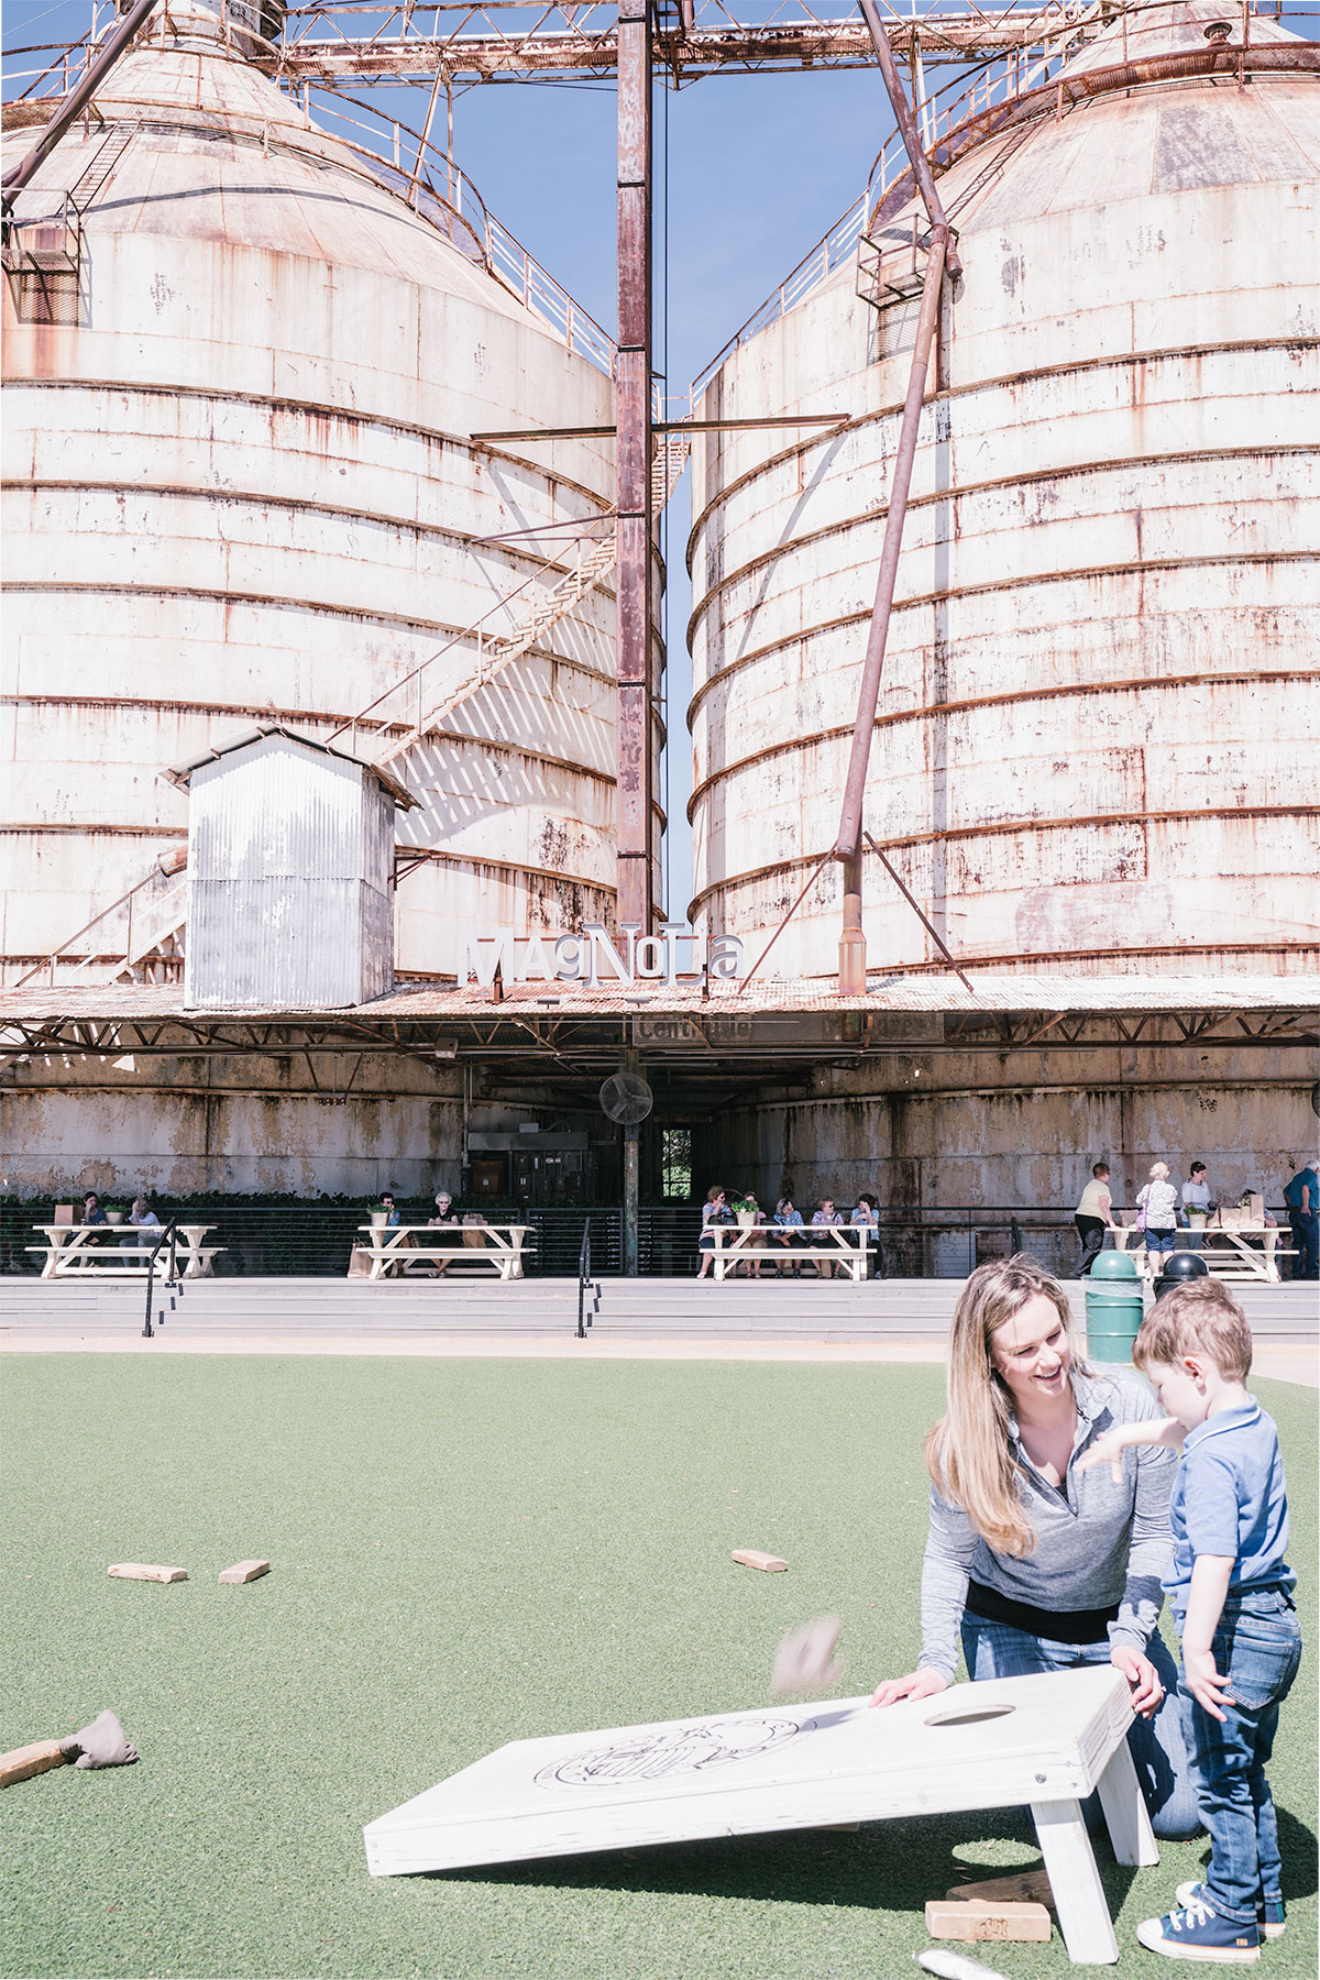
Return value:
<svg viewBox="0 0 1320 1980">
<path fill-rule="evenodd" d="M 617 782 L 619 927 L 651 933 L 651 0 L 619 0 Z M 627 1269 L 627 1267 L 625 1267 Z"/>
</svg>

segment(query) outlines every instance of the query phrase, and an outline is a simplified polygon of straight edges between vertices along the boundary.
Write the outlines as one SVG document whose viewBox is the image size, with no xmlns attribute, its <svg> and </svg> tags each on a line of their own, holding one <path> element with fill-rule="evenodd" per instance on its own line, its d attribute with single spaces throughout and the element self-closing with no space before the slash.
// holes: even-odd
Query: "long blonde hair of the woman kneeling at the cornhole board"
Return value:
<svg viewBox="0 0 1320 1980">
<path fill-rule="evenodd" d="M 962 1289 L 948 1342 L 948 1410 L 926 1436 L 926 1469 L 936 1491 L 960 1505 L 997 1554 L 1029 1554 L 1035 1529 L 1023 1513 L 1009 1445 L 1011 1394 L 995 1368 L 991 1335 L 1037 1293 L 1059 1309 L 1073 1368 L 1084 1372 L 1063 1287 L 1033 1257 L 978 1265 Z"/>
</svg>

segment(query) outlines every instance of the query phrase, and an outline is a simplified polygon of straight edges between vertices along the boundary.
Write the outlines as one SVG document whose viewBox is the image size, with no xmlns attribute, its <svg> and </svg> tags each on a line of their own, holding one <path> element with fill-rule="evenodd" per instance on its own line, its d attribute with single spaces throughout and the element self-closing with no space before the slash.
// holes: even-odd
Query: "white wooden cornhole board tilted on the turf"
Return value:
<svg viewBox="0 0 1320 1980">
<path fill-rule="evenodd" d="M 368 1822 L 366 1867 L 404 1877 L 1025 1804 L 1071 1958 L 1110 1966 L 1118 1942 L 1079 1804 L 1100 1790 L 1120 1863 L 1160 1861 L 1130 1725 L 1126 1679 L 1106 1663 L 887 1711 L 863 1697 L 524 1738 Z"/>
</svg>

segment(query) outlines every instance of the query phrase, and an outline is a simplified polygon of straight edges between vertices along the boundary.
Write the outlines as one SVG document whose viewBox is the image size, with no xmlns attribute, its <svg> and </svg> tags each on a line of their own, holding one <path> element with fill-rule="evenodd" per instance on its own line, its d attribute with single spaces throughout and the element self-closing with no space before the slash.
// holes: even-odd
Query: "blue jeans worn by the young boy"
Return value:
<svg viewBox="0 0 1320 1980">
<path fill-rule="evenodd" d="M 1229 1596 L 1215 1630 L 1215 1669 L 1229 1677 L 1233 1703 L 1219 1725 L 1195 1703 L 1185 1679 L 1195 1748 L 1197 1798 L 1211 1857 L 1201 1879 L 1217 1913 L 1247 1925 L 1261 1899 L 1282 1901 L 1278 1822 L 1265 1762 L 1274 1746 L 1278 1707 L 1302 1661 L 1302 1630 L 1292 1596 L 1278 1588 Z"/>
</svg>

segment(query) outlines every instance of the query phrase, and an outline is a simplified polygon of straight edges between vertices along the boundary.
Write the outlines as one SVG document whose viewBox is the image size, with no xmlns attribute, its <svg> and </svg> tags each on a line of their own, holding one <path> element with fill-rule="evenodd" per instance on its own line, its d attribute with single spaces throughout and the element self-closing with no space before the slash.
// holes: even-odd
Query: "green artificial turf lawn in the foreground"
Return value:
<svg viewBox="0 0 1320 1980">
<path fill-rule="evenodd" d="M 768 1701 L 778 1637 L 845 1618 L 861 1691 L 912 1665 L 938 1368 L 8 1356 L 0 1748 L 113 1707 L 142 1760 L 0 1796 L 6 1976 L 877 1980 L 922 1905 L 1035 1863 L 1025 1816 L 370 1879 L 362 1824 L 511 1738 Z M 1316 1398 L 1259 1384 L 1316 1570 Z M 788 1574 L 730 1564 L 782 1552 Z M 222 1588 L 269 1554 L 273 1574 Z M 107 1580 L 111 1560 L 188 1582 Z M 1314 1653 L 1271 1768 L 1288 1936 L 1316 1970 Z M 1156 1871 L 1100 1845 L 1120 1974 Z M 1051 1946 L 984 1948 L 1007 1976 Z"/>
</svg>

